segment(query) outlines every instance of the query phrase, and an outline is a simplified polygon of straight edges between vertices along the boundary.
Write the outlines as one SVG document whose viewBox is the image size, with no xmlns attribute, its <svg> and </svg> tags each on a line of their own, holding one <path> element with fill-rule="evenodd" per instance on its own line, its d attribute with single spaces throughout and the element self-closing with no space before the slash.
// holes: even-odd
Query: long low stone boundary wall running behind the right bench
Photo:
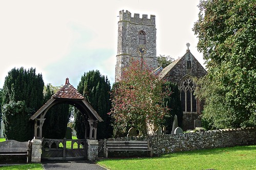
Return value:
<svg viewBox="0 0 256 170">
<path fill-rule="evenodd" d="M 108 140 L 149 140 L 153 155 L 172 152 L 192 151 L 211 148 L 234 147 L 256 144 L 256 127 L 239 129 L 222 129 L 183 134 L 154 135 L 146 138 L 124 137 Z M 99 141 L 99 156 L 103 156 L 104 141 Z"/>
</svg>

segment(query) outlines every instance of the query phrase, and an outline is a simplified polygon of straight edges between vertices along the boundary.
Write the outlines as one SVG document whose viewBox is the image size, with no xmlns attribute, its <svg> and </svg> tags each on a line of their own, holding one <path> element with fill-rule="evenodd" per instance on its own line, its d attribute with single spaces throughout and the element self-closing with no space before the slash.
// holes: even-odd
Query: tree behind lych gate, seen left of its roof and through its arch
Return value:
<svg viewBox="0 0 256 170">
<path fill-rule="evenodd" d="M 47 84 L 45 88 L 45 103 L 57 92 L 58 88 Z M 67 124 L 70 118 L 69 105 L 58 104 L 51 107 L 46 115 L 43 126 L 43 136 L 50 139 L 63 139 L 65 137 Z"/>
</svg>

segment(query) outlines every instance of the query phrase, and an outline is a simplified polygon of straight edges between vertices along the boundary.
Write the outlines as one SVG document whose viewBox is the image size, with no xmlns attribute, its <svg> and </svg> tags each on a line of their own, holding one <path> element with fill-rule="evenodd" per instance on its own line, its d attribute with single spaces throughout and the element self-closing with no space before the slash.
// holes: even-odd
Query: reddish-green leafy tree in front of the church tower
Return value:
<svg viewBox="0 0 256 170">
<path fill-rule="evenodd" d="M 132 61 L 123 70 L 122 80 L 112 91 L 112 115 L 115 132 L 125 133 L 127 127 L 147 134 L 147 124 L 161 125 L 168 114 L 163 106 L 163 81 L 151 73 L 142 60 Z"/>
</svg>

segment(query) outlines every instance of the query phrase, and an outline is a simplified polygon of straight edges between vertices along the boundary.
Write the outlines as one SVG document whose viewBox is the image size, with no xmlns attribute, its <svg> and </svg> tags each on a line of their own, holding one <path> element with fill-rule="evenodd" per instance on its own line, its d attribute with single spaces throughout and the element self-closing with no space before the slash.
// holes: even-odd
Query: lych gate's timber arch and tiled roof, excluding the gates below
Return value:
<svg viewBox="0 0 256 170">
<path fill-rule="evenodd" d="M 85 139 L 96 139 L 97 123 L 103 122 L 99 114 L 92 108 L 92 106 L 85 100 L 84 96 L 79 93 L 70 83 L 69 79 L 66 79 L 65 85 L 52 95 L 52 98 L 48 100 L 34 115 L 30 117 L 34 120 L 34 138 L 42 139 L 43 124 L 45 121 L 45 115 L 47 111 L 57 104 L 69 104 L 73 105 L 82 112 L 85 120 Z M 88 131 L 89 130 L 89 131 Z M 89 136 L 87 136 L 89 134 Z"/>
</svg>

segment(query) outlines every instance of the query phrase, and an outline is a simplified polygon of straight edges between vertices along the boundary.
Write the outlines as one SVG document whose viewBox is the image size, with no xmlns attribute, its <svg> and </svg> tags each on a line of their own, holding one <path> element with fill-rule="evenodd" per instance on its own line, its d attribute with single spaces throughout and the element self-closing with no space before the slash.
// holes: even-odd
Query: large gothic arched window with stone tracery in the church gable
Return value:
<svg viewBox="0 0 256 170">
<path fill-rule="evenodd" d="M 194 95 L 195 83 L 191 77 L 187 77 L 181 81 L 180 90 L 182 111 L 197 112 L 197 102 Z"/>
</svg>

